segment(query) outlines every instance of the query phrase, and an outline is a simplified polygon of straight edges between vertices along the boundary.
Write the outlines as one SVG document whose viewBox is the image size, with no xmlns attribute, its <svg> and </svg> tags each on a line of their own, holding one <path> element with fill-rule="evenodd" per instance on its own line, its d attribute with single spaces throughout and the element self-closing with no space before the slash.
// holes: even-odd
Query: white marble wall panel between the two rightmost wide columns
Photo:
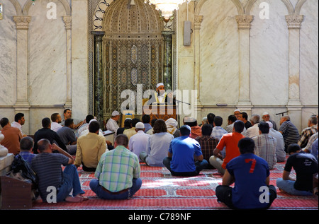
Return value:
<svg viewBox="0 0 319 224">
<path fill-rule="evenodd" d="M 286 105 L 289 97 L 288 15 L 282 1 L 267 0 L 269 19 L 259 18 L 257 0 L 250 29 L 250 100 L 252 105 Z"/>
</svg>

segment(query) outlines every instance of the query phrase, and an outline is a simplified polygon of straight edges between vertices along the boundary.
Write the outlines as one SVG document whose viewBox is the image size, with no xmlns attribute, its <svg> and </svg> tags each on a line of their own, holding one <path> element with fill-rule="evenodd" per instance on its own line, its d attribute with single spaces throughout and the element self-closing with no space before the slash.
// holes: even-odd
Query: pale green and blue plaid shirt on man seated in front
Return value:
<svg viewBox="0 0 319 224">
<path fill-rule="evenodd" d="M 111 192 L 122 191 L 133 186 L 133 178 L 140 177 L 138 156 L 124 146 L 103 153 L 96 167 L 95 177 L 99 184 Z"/>
</svg>

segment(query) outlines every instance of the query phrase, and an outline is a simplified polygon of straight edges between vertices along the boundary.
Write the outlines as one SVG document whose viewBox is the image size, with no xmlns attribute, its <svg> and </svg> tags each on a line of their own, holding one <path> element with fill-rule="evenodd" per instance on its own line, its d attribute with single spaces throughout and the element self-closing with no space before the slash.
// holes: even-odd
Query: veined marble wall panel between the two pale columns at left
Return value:
<svg viewBox="0 0 319 224">
<path fill-rule="evenodd" d="M 55 3 L 57 18 L 47 18 L 49 2 Z M 36 1 L 29 16 L 29 102 L 55 105 L 67 98 L 66 30 L 64 6 L 57 0 Z"/>
</svg>

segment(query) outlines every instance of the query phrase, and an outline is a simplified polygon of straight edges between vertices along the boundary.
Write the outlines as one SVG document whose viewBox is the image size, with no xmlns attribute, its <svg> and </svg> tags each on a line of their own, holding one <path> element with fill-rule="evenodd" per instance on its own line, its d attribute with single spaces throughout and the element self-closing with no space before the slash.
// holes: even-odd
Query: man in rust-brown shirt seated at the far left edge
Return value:
<svg viewBox="0 0 319 224">
<path fill-rule="evenodd" d="M 1 133 L 4 135 L 4 140 L 2 140 L 0 144 L 8 148 L 9 153 L 17 155 L 20 153 L 21 131 L 11 126 L 9 119 L 6 117 L 0 120 L 0 125 L 2 127 Z"/>
</svg>

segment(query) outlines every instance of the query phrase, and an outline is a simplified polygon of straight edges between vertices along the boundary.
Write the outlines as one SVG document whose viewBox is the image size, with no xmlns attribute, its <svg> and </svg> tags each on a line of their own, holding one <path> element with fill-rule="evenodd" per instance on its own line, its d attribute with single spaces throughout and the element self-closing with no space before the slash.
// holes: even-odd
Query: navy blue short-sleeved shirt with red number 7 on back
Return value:
<svg viewBox="0 0 319 224">
<path fill-rule="evenodd" d="M 233 205 L 240 209 L 266 208 L 267 203 L 259 201 L 266 187 L 269 176 L 268 163 L 253 153 L 245 153 L 233 158 L 226 166 L 230 175 L 235 177 L 235 186 L 232 189 Z"/>
</svg>

